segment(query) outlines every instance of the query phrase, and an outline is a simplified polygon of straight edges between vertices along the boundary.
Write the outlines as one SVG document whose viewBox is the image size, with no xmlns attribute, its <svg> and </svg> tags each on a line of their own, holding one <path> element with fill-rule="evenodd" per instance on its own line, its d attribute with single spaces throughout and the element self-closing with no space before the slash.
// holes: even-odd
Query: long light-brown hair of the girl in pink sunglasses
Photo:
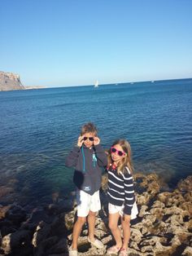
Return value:
<svg viewBox="0 0 192 256">
<path fill-rule="evenodd" d="M 125 167 L 128 167 L 130 172 L 133 174 L 133 163 L 132 163 L 132 152 L 131 147 L 129 145 L 129 142 L 126 139 L 117 139 L 112 143 L 112 146 L 115 146 L 116 144 L 119 144 L 121 148 L 123 148 L 126 155 L 122 158 L 122 161 L 117 166 L 117 172 L 118 174 L 121 172 L 126 172 Z M 111 151 L 108 152 L 108 166 L 111 166 L 112 164 L 112 158 L 111 158 Z"/>
</svg>

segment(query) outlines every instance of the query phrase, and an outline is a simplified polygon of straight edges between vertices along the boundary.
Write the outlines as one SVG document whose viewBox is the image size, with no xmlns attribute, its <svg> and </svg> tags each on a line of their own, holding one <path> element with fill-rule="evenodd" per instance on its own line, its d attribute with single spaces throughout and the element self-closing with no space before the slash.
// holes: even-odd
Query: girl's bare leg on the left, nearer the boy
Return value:
<svg viewBox="0 0 192 256">
<path fill-rule="evenodd" d="M 121 248 L 122 240 L 120 235 L 120 228 L 118 227 L 118 220 L 120 218 L 120 214 L 109 214 L 109 228 L 111 229 L 111 233 L 116 240 L 116 247 Z"/>
</svg>

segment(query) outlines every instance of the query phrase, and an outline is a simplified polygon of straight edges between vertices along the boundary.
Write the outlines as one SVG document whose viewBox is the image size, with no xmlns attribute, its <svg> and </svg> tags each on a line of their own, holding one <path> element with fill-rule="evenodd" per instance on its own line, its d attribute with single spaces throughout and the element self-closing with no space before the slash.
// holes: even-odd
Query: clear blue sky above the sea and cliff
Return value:
<svg viewBox="0 0 192 256">
<path fill-rule="evenodd" d="M 0 4 L 0 71 L 24 86 L 192 77 L 191 0 Z"/>
</svg>

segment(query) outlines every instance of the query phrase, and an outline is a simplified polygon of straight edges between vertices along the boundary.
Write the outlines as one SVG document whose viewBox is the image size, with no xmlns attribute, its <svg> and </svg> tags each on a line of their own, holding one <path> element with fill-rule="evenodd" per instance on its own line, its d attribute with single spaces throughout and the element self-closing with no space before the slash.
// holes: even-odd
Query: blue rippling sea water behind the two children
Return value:
<svg viewBox="0 0 192 256">
<path fill-rule="evenodd" d="M 129 140 L 135 172 L 192 173 L 192 79 L 0 92 L 0 204 L 74 190 L 64 159 L 87 121 L 104 148 Z"/>
</svg>

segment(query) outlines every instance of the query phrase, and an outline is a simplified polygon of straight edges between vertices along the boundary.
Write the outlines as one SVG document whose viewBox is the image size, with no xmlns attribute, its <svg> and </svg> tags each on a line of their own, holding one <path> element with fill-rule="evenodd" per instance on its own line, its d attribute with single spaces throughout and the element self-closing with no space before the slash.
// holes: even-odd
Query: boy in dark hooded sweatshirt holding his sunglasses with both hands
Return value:
<svg viewBox="0 0 192 256">
<path fill-rule="evenodd" d="M 93 123 L 87 123 L 81 128 L 81 135 L 76 146 L 68 154 L 65 162 L 68 167 L 75 167 L 73 182 L 76 184 L 77 220 L 72 232 L 72 245 L 69 256 L 77 256 L 77 240 L 88 217 L 88 241 L 97 248 L 103 248 L 103 243 L 95 239 L 95 216 L 101 209 L 99 188 L 101 187 L 102 170 L 107 166 L 107 155 L 104 152 L 97 129 Z"/>
</svg>

